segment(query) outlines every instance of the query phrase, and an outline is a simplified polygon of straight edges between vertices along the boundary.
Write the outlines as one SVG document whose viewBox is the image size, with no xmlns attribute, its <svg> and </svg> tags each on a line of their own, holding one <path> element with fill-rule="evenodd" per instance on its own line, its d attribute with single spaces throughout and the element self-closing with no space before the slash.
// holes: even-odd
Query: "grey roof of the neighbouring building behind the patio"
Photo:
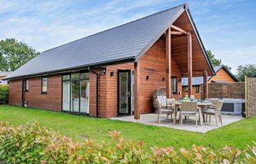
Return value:
<svg viewBox="0 0 256 164">
<path fill-rule="evenodd" d="M 217 73 L 217 71 L 219 71 L 222 68 L 225 69 L 227 73 L 230 74 L 230 76 L 235 79 L 236 82 L 238 82 L 236 77 L 234 77 L 234 75 L 225 66 L 222 66 L 222 65 L 214 66 L 214 71 Z M 208 80 L 211 79 L 211 77 L 214 77 L 214 76 L 209 76 Z M 224 81 L 219 80 L 216 82 L 224 82 Z M 200 85 L 200 84 L 203 84 L 203 77 L 192 77 L 192 85 Z M 187 85 L 188 85 L 187 77 L 182 77 L 182 86 L 187 86 Z"/>
</svg>

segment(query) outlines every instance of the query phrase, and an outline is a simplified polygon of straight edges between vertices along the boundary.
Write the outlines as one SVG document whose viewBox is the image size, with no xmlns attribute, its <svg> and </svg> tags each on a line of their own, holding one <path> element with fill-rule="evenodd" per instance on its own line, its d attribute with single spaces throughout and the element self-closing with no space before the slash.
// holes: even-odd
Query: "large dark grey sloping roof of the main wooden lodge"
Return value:
<svg viewBox="0 0 256 164">
<path fill-rule="evenodd" d="M 187 9 L 187 4 L 46 50 L 7 79 L 138 60 Z"/>
</svg>

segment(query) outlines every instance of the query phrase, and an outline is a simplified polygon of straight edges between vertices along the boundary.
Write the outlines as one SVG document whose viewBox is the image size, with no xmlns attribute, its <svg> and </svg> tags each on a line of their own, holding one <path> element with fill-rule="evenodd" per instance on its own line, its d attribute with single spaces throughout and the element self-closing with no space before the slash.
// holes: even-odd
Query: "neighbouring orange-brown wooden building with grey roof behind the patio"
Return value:
<svg viewBox="0 0 256 164">
<path fill-rule="evenodd" d="M 210 82 L 238 82 L 238 79 L 225 67 L 225 66 L 214 66 L 215 75 L 208 76 L 208 83 Z M 192 95 L 195 98 L 201 98 L 200 85 L 203 84 L 203 77 L 193 77 L 192 79 Z M 182 78 L 182 97 L 188 95 L 188 79 Z"/>
</svg>

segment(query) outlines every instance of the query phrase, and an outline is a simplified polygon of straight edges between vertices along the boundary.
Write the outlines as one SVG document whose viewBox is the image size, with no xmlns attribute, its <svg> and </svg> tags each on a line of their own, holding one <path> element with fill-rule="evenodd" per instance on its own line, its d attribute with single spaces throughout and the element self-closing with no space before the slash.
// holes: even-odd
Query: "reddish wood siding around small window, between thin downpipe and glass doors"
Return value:
<svg viewBox="0 0 256 164">
<path fill-rule="evenodd" d="M 29 78 L 29 92 L 24 96 L 29 107 L 61 111 L 61 74 L 47 77 L 47 94 L 41 93 L 41 77 Z"/>
</svg>

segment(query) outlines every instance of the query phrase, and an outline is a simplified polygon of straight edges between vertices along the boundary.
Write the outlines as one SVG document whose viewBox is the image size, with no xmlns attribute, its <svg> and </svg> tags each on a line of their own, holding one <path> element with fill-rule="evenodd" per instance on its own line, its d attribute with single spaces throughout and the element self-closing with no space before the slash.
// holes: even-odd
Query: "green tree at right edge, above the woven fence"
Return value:
<svg viewBox="0 0 256 164">
<path fill-rule="evenodd" d="M 244 82 L 244 76 L 246 77 L 256 77 L 256 65 L 246 64 L 245 66 L 238 66 L 237 78 L 239 81 Z"/>
</svg>

